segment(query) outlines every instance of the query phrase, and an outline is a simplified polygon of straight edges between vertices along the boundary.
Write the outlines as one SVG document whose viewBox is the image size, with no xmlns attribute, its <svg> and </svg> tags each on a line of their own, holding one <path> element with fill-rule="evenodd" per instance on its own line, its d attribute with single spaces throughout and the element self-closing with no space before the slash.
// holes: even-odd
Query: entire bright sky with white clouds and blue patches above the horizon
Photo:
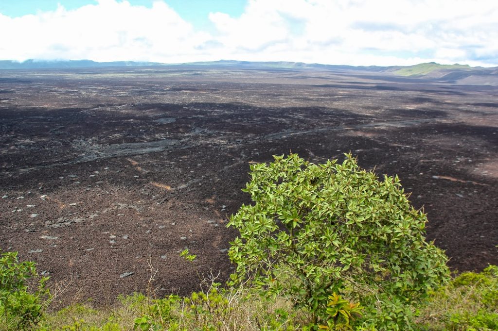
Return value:
<svg viewBox="0 0 498 331">
<path fill-rule="evenodd" d="M 0 0 L 0 60 L 498 66 L 493 0 Z"/>
</svg>

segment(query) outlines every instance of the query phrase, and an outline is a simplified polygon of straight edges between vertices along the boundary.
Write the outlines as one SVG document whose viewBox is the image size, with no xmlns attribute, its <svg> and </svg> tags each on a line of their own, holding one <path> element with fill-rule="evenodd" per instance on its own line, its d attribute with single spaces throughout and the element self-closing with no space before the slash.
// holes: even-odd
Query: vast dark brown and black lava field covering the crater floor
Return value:
<svg viewBox="0 0 498 331">
<path fill-rule="evenodd" d="M 249 164 L 351 151 L 398 174 L 460 271 L 498 264 L 498 88 L 360 71 L 216 66 L 0 71 L 0 248 L 63 302 L 187 293 L 231 272 Z"/>
</svg>

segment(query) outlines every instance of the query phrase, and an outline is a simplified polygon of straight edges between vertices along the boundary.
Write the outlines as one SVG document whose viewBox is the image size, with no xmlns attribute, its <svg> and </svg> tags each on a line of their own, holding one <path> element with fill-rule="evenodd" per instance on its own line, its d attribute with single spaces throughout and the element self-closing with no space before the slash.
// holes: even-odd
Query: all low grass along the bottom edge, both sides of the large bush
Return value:
<svg viewBox="0 0 498 331">
<path fill-rule="evenodd" d="M 431 293 L 429 300 L 417 309 L 419 314 L 412 325 L 415 331 L 498 330 L 498 267 L 490 266 L 481 273 L 462 273 Z M 76 303 L 56 312 L 45 312 L 42 321 L 31 330 L 293 331 L 310 330 L 308 323 L 306 313 L 294 309 L 284 298 L 264 300 L 251 290 L 215 286 L 188 297 L 154 299 L 153 293 L 122 296 L 112 307 Z M 355 328 L 354 321 L 352 325 L 351 330 L 365 330 Z M 0 324 L 0 330 L 14 329 Z"/>
</svg>

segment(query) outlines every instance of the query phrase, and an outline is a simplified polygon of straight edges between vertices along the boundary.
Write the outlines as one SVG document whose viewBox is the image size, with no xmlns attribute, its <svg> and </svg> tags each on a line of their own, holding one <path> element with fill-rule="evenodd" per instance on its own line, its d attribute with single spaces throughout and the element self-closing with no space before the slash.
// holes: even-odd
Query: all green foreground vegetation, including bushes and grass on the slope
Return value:
<svg viewBox="0 0 498 331">
<path fill-rule="evenodd" d="M 240 236 L 224 286 L 211 277 L 189 297 L 150 290 L 109 309 L 47 313 L 46 279 L 5 252 L 0 330 L 498 329 L 498 267 L 450 280 L 397 177 L 378 180 L 351 155 L 323 165 L 275 157 L 251 165 L 250 176 L 252 204 L 229 222 Z M 195 265 L 196 255 L 181 255 Z"/>
</svg>

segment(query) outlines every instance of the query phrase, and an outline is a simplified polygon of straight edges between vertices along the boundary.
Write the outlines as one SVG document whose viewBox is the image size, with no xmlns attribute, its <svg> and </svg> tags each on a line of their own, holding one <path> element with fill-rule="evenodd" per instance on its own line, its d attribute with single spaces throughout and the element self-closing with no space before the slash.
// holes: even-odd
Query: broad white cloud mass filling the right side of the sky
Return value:
<svg viewBox="0 0 498 331">
<path fill-rule="evenodd" d="M 289 18 L 301 22 L 302 34 L 282 32 Z M 498 2 L 487 0 L 251 0 L 240 18 L 210 19 L 232 54 L 244 56 L 250 45 L 261 60 L 288 53 L 295 61 L 336 64 L 498 65 Z M 270 52 L 268 40 L 284 47 Z"/>
</svg>

